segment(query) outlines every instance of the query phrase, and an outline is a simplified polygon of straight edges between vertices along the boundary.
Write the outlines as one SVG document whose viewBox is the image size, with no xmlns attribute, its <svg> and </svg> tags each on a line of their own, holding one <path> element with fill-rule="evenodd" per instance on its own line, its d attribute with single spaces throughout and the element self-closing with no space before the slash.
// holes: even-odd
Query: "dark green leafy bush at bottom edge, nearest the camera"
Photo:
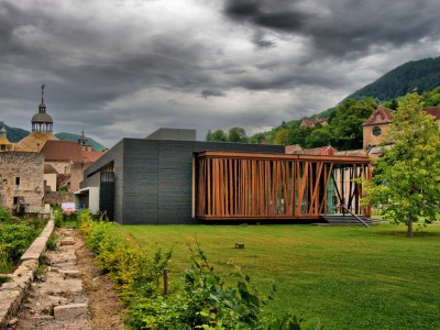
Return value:
<svg viewBox="0 0 440 330">
<path fill-rule="evenodd" d="M 193 263 L 185 272 L 183 289 L 170 296 L 134 297 L 128 321 L 131 328 L 285 329 L 270 328 L 272 321 L 263 307 L 272 297 L 263 297 L 248 275 L 238 267 L 226 275 L 215 272 L 199 242 L 189 250 Z"/>
</svg>

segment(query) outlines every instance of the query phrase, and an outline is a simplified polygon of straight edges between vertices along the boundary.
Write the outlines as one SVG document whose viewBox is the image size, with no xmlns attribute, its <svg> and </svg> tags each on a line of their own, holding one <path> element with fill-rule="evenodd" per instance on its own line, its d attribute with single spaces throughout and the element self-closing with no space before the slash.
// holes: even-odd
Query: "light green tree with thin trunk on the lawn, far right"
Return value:
<svg viewBox="0 0 440 330">
<path fill-rule="evenodd" d="M 373 182 L 366 185 L 367 205 L 382 207 L 382 215 L 408 227 L 420 219 L 430 222 L 440 211 L 440 129 L 422 111 L 417 94 L 399 102 L 386 140 L 391 148 L 375 161 Z"/>
</svg>

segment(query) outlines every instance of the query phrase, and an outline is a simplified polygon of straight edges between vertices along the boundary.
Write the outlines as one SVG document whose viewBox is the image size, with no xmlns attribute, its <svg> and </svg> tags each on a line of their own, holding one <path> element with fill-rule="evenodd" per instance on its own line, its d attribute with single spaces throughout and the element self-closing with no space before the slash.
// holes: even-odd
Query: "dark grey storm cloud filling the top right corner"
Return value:
<svg viewBox="0 0 440 330">
<path fill-rule="evenodd" d="M 437 37 L 439 4 L 433 0 L 229 0 L 232 20 L 309 38 L 318 56 L 363 56 L 375 45 L 389 47 Z"/>
</svg>

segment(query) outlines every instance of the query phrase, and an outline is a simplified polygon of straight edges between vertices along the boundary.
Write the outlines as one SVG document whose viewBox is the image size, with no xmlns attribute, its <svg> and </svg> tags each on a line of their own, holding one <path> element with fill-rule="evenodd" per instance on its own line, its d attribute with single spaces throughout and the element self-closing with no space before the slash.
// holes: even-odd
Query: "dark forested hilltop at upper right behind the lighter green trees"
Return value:
<svg viewBox="0 0 440 330">
<path fill-rule="evenodd" d="M 414 91 L 419 94 L 440 85 L 440 57 L 407 62 L 366 85 L 348 98 L 373 97 L 380 101 L 395 99 Z"/>
</svg>

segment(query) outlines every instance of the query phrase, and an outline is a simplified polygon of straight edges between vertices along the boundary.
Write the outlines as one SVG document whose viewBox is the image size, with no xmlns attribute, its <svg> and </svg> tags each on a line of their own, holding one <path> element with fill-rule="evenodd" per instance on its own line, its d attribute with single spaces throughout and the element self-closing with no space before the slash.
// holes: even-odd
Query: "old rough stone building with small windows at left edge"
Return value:
<svg viewBox="0 0 440 330">
<path fill-rule="evenodd" d="M 0 153 L 0 205 L 40 212 L 44 196 L 44 158 L 40 153 Z"/>
</svg>

